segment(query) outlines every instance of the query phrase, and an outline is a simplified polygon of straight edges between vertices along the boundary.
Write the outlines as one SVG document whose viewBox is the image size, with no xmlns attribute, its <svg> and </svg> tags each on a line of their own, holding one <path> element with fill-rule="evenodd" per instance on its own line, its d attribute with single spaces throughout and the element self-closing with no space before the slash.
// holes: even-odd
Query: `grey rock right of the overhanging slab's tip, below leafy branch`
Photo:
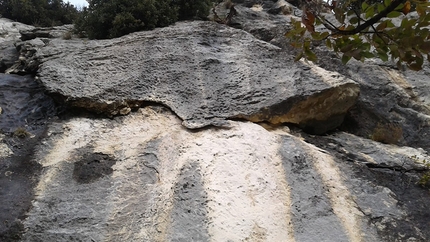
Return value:
<svg viewBox="0 0 430 242">
<path fill-rule="evenodd" d="M 339 71 L 360 83 L 360 97 L 348 113 L 343 130 L 365 138 L 386 133 L 381 141 L 421 147 L 430 152 L 430 139 L 427 138 L 430 136 L 430 95 L 426 91 L 429 90 L 430 78 L 427 66 L 419 72 L 399 72 L 372 62 L 352 61 L 342 67 L 340 63 L 336 65 L 336 61 L 327 63 L 328 60 L 324 60 L 321 63 L 323 68 Z M 393 133 L 401 134 L 401 138 L 391 139 Z"/>
</svg>

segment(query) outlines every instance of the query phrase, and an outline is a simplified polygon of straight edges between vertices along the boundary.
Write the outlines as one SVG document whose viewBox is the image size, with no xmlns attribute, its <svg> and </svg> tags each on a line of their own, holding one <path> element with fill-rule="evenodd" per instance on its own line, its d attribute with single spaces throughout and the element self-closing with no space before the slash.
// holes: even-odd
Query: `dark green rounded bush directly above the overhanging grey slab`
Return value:
<svg viewBox="0 0 430 242">
<path fill-rule="evenodd" d="M 209 14 L 211 0 L 89 0 L 75 30 L 90 39 L 119 37 Z"/>
</svg>

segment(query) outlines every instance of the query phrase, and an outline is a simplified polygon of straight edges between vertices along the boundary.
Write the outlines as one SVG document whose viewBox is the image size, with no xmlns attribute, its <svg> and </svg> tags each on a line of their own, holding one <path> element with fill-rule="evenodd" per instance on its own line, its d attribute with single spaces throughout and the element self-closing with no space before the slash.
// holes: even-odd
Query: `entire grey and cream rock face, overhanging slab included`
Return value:
<svg viewBox="0 0 430 242">
<path fill-rule="evenodd" d="M 294 63 L 287 5 L 242 2 L 242 30 L 23 28 L 14 70 L 38 75 L 0 74 L 0 241 L 429 241 L 428 69 Z"/>
</svg>

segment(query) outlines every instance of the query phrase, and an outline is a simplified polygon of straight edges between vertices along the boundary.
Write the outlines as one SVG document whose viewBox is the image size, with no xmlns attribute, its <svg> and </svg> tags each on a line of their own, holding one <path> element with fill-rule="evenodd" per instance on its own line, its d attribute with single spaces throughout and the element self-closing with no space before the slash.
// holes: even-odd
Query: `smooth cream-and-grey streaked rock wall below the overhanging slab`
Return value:
<svg viewBox="0 0 430 242">
<path fill-rule="evenodd" d="M 54 122 L 33 156 L 43 173 L 21 241 L 430 238 L 430 194 L 412 170 L 396 172 L 416 166 L 397 163 L 402 154 L 427 159 L 422 151 L 348 134 L 316 136 L 318 148 L 288 129 L 229 123 L 190 131 L 159 107 Z M 365 154 L 388 172 L 363 165 Z"/>
</svg>

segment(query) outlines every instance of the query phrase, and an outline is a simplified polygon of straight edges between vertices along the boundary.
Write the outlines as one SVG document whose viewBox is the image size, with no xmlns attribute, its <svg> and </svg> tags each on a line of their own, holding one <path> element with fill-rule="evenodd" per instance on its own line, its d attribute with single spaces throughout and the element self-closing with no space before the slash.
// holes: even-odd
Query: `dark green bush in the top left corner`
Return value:
<svg viewBox="0 0 430 242">
<path fill-rule="evenodd" d="M 0 15 L 25 24 L 54 26 L 71 24 L 78 10 L 62 0 L 0 0 Z"/>
</svg>

